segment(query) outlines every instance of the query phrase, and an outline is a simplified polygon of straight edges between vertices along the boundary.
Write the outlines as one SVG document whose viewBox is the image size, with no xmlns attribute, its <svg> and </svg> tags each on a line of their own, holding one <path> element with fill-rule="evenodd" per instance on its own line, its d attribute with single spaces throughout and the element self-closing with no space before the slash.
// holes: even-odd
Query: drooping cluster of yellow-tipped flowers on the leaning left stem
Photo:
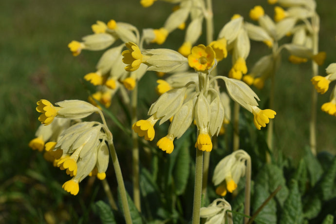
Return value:
<svg viewBox="0 0 336 224">
<path fill-rule="evenodd" d="M 76 195 L 79 182 L 88 175 L 105 179 L 109 163 L 107 129 L 99 122 L 80 120 L 99 109 L 80 100 L 65 100 L 54 106 L 42 99 L 37 102 L 36 110 L 41 113 L 38 120 L 42 124 L 29 146 L 39 151 L 44 149 L 44 158 L 72 177 L 63 184 L 64 190 Z"/>
</svg>

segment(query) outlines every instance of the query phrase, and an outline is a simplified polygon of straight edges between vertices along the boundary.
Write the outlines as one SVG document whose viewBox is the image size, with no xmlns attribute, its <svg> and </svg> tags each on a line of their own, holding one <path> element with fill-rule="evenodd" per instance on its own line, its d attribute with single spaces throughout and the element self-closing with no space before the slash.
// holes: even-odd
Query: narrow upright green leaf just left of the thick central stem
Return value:
<svg viewBox="0 0 336 224">
<path fill-rule="evenodd" d="M 177 195 L 183 194 L 187 187 L 190 172 L 190 142 L 185 141 L 179 150 L 174 170 L 175 192 Z"/>
</svg>

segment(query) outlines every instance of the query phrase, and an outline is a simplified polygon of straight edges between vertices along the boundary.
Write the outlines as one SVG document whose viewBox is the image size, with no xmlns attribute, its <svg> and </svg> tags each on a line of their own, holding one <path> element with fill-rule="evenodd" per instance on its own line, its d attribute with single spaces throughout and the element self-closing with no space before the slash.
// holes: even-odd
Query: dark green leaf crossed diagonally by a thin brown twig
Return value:
<svg viewBox="0 0 336 224">
<path fill-rule="evenodd" d="M 258 183 L 255 185 L 255 192 L 252 200 L 253 213 L 264 203 L 270 193 L 266 188 Z M 277 205 L 274 199 L 271 199 L 267 205 L 263 207 L 261 212 L 257 215 L 255 223 L 277 223 Z"/>
</svg>

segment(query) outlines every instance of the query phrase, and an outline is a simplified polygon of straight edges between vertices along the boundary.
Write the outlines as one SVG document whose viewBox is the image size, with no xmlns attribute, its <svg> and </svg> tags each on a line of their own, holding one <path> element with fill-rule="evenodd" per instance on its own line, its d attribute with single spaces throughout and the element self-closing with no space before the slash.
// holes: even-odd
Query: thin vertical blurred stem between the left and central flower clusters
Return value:
<svg viewBox="0 0 336 224">
<path fill-rule="evenodd" d="M 137 121 L 137 99 L 138 99 L 138 85 L 136 84 L 131 93 L 131 124 Z M 132 181 L 133 181 L 133 201 L 134 205 L 141 211 L 140 202 L 140 187 L 139 187 L 139 144 L 138 135 L 132 131 Z"/>
</svg>

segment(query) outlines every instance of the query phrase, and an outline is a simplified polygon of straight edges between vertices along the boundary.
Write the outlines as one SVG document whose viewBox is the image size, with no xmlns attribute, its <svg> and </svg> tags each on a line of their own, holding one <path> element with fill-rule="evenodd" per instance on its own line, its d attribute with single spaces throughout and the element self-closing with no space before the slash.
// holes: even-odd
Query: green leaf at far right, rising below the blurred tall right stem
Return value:
<svg viewBox="0 0 336 224">
<path fill-rule="evenodd" d="M 318 162 L 317 158 L 312 154 L 309 148 L 305 149 L 304 160 L 306 164 L 309 164 L 307 168 L 310 176 L 310 183 L 311 186 L 313 187 L 317 183 L 318 179 L 321 177 L 323 169 L 320 163 Z"/>
</svg>

